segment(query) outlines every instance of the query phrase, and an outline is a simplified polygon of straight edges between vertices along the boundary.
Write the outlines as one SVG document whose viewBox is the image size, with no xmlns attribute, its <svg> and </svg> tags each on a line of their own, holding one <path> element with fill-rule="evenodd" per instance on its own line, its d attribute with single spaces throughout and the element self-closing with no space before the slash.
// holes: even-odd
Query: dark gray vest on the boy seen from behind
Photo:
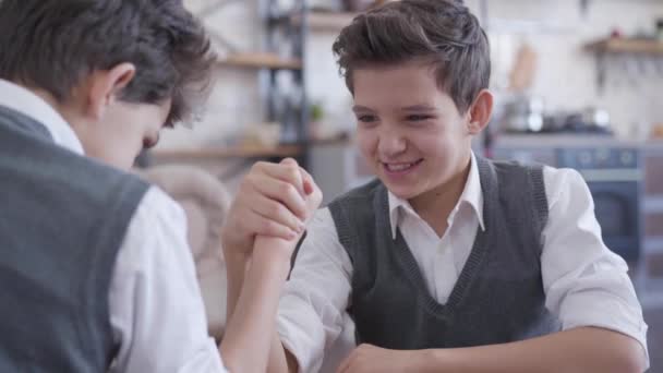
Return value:
<svg viewBox="0 0 663 373">
<path fill-rule="evenodd" d="M 108 290 L 148 185 L 0 106 L 0 372 L 106 372 Z"/>
</svg>

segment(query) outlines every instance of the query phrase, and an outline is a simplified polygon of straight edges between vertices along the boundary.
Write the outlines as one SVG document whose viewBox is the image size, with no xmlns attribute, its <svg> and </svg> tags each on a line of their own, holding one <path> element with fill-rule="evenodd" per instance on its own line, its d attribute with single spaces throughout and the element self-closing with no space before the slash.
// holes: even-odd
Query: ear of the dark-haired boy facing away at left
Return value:
<svg viewBox="0 0 663 373">
<path fill-rule="evenodd" d="M 88 80 L 86 111 L 95 119 L 104 116 L 106 108 L 118 99 L 136 73 L 132 63 L 120 63 L 110 70 L 95 71 Z"/>
</svg>

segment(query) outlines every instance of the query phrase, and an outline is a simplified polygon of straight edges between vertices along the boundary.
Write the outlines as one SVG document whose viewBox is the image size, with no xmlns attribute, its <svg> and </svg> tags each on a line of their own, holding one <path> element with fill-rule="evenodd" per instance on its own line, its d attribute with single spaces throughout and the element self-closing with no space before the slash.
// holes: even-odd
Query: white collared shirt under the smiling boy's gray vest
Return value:
<svg viewBox="0 0 663 373">
<path fill-rule="evenodd" d="M 543 169 L 549 220 L 543 229 L 541 272 L 546 308 L 564 329 L 595 326 L 637 339 L 647 353 L 647 324 L 624 260 L 601 239 L 593 201 L 571 169 Z M 430 293 L 446 303 L 483 225 L 483 194 L 472 155 L 463 192 L 439 238 L 407 201 L 389 193 L 393 237 L 397 228 L 412 252 Z M 348 316 L 352 264 L 338 240 L 328 208 L 308 228 L 279 304 L 277 328 L 301 372 L 334 369 L 354 347 Z M 649 362 L 649 358 L 647 357 Z"/>
</svg>

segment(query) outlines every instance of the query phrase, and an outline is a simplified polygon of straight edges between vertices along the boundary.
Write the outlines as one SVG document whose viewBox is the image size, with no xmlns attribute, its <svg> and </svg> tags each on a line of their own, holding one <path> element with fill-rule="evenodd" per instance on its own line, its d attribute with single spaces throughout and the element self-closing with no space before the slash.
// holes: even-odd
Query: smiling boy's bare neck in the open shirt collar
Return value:
<svg viewBox="0 0 663 373">
<path fill-rule="evenodd" d="M 447 182 L 409 201 L 417 214 L 435 230 L 438 237 L 443 237 L 447 230 L 448 217 L 465 190 L 471 169 L 470 157 L 465 165 Z"/>
</svg>

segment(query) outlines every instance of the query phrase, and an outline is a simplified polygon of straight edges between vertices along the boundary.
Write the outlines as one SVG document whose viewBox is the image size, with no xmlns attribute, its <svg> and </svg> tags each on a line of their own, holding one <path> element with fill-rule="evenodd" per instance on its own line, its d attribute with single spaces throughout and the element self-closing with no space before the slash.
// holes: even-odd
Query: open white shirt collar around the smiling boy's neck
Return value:
<svg viewBox="0 0 663 373">
<path fill-rule="evenodd" d="M 456 212 L 462 206 L 467 204 L 472 207 L 473 213 L 477 215 L 477 219 L 479 220 L 479 226 L 481 230 L 485 230 L 485 226 L 483 224 L 483 193 L 481 190 L 481 180 L 479 178 L 479 167 L 477 165 L 477 157 L 472 152 L 470 157 L 470 173 L 468 175 L 468 180 L 465 183 L 465 188 L 462 193 L 460 194 L 460 198 L 454 207 L 451 215 L 449 216 L 449 221 L 453 220 Z M 411 214 L 413 216 L 419 216 L 412 205 L 407 200 L 402 200 L 394 195 L 390 191 L 389 195 L 389 222 L 391 226 L 391 238 L 396 239 L 396 232 L 398 230 L 398 224 L 400 221 L 400 214 Z"/>
</svg>

